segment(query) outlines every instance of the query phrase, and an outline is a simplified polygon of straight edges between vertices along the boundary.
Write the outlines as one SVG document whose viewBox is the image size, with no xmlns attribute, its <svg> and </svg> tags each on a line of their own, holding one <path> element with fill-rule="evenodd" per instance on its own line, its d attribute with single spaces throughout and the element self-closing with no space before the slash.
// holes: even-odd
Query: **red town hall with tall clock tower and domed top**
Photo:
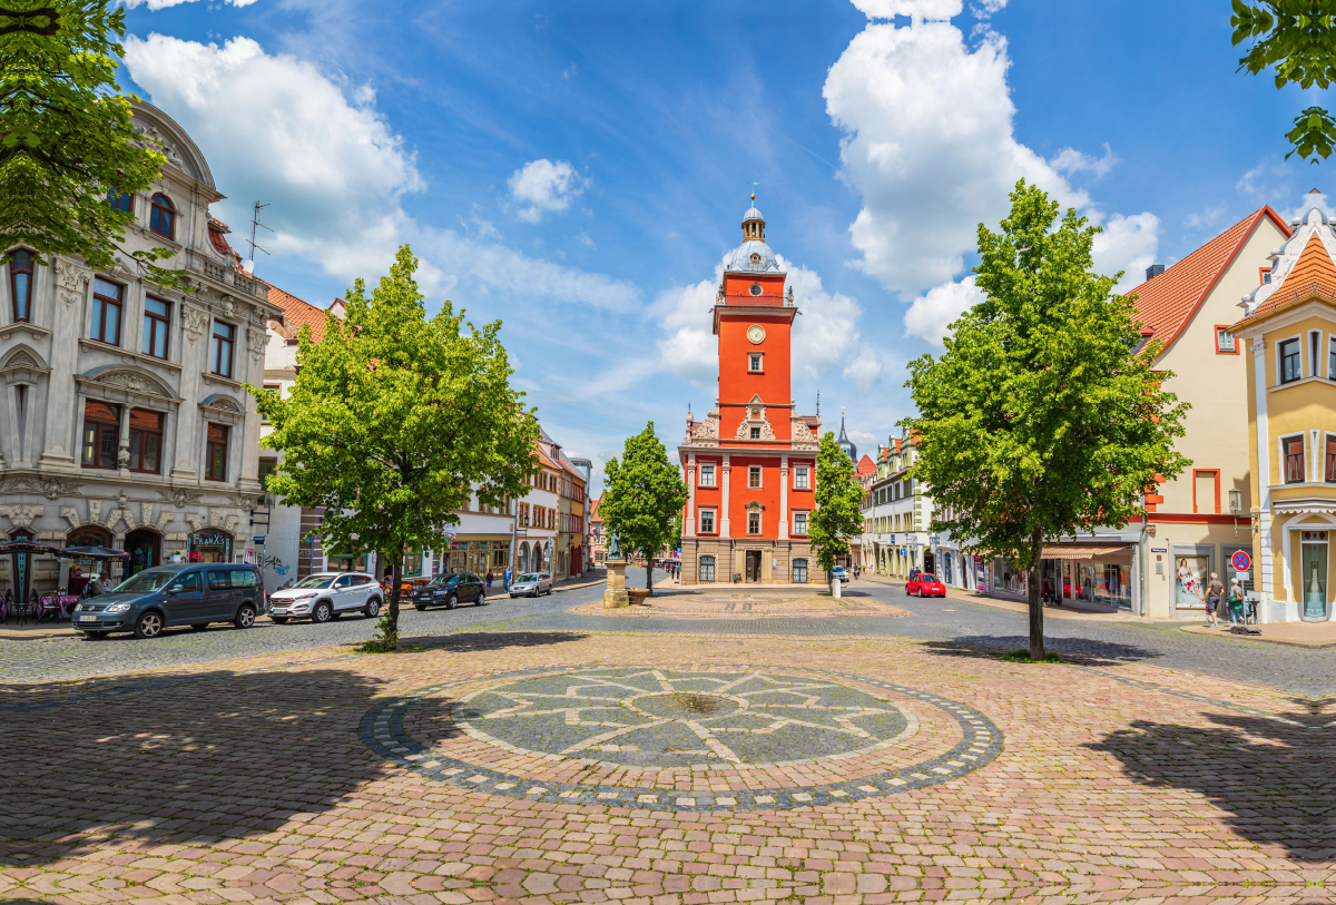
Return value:
<svg viewBox="0 0 1336 905">
<path fill-rule="evenodd" d="M 677 447 L 688 490 L 684 585 L 733 575 L 806 583 L 815 567 L 807 526 L 822 419 L 799 415 L 791 395 L 798 308 L 784 276 L 766 244 L 766 219 L 752 207 L 715 299 L 719 395 L 704 420 L 687 412 Z"/>
</svg>

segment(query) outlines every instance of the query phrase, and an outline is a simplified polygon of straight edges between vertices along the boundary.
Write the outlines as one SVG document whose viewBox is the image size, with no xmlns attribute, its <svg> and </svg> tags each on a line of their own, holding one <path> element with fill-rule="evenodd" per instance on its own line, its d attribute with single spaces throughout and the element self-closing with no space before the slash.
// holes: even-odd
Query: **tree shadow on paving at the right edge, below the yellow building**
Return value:
<svg viewBox="0 0 1336 905">
<path fill-rule="evenodd" d="M 1137 782 L 1190 789 L 1228 814 L 1234 833 L 1281 846 L 1303 865 L 1336 858 L 1336 698 L 1292 698 L 1285 721 L 1213 713 L 1209 727 L 1137 721 L 1089 747 Z M 1181 800 L 1166 801 L 1176 810 Z M 1209 846 L 1209 841 L 1202 841 Z"/>
</svg>

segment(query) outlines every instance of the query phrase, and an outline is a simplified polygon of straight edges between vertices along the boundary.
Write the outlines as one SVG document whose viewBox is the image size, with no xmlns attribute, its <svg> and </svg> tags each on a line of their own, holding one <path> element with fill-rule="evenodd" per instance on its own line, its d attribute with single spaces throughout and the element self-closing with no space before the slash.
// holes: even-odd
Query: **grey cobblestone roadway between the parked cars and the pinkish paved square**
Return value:
<svg viewBox="0 0 1336 905">
<path fill-rule="evenodd" d="M 628 581 L 643 586 L 644 573 L 628 570 Z M 661 579 L 656 579 L 661 581 Z M 601 599 L 603 589 L 587 587 L 538 599 L 496 599 L 485 607 L 458 610 L 409 609 L 402 633 L 409 645 L 445 642 L 460 631 L 636 631 L 689 633 L 711 641 L 763 635 L 806 637 L 844 634 L 914 638 L 942 649 L 961 645 L 1018 649 L 1026 646 L 1026 617 L 954 599 L 908 598 L 903 586 L 854 583 L 846 599 L 871 599 L 910 610 L 903 618 L 693 618 L 609 619 L 570 613 Z M 838 627 L 836 627 L 838 626 Z M 274 655 L 274 662 L 329 645 L 355 645 L 375 629 L 370 619 L 347 618 L 323 626 L 261 622 L 238 631 L 214 626 L 206 633 L 170 631 L 154 641 L 128 635 L 88 642 L 81 638 L 47 641 L 0 639 L 0 675 L 15 685 L 194 666 L 238 657 Z M 1178 623 L 1049 619 L 1045 634 L 1053 650 L 1082 654 L 1110 663 L 1148 662 L 1166 669 L 1201 673 L 1241 683 L 1260 683 L 1309 697 L 1336 694 L 1336 650 L 1305 650 L 1246 641 L 1204 638 L 1178 630 Z M 699 645 L 701 641 L 689 643 Z M 3 701 L 3 697 L 0 697 Z M 0 702 L 0 709 L 3 709 Z"/>
</svg>

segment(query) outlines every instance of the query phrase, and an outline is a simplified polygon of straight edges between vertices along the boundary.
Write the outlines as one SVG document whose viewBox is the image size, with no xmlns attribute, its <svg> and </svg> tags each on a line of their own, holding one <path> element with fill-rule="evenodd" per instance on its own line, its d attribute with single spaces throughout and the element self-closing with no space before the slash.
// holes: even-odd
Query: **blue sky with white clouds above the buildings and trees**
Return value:
<svg viewBox="0 0 1336 905">
<path fill-rule="evenodd" d="M 429 306 L 502 319 L 517 383 L 596 462 L 713 400 L 708 308 L 751 182 L 803 318 L 794 395 L 860 448 L 975 298 L 1025 176 L 1140 282 L 1332 166 L 1319 103 L 1237 75 L 1225 0 L 138 0 L 126 83 L 175 117 L 257 274 L 314 304 L 411 243 Z"/>
</svg>

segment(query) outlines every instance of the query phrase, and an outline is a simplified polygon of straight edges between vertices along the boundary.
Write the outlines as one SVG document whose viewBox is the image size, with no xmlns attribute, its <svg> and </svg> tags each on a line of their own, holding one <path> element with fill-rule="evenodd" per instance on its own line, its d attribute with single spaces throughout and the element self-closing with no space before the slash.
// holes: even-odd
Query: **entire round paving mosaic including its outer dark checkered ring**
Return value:
<svg viewBox="0 0 1336 905">
<path fill-rule="evenodd" d="M 453 689 L 464 694 L 452 702 Z M 876 697 L 882 690 L 911 707 Z M 921 717 L 942 741 L 915 741 L 919 705 L 933 709 Z M 437 746 L 405 729 L 405 718 L 418 714 L 415 731 L 437 734 L 424 713 L 445 721 Z M 633 810 L 859 801 L 958 780 L 1002 751 L 1002 733 L 987 717 L 930 691 L 859 675 L 743 666 L 534 669 L 442 682 L 379 702 L 362 718 L 359 735 L 373 751 L 433 781 Z M 683 792 L 673 776 L 700 780 Z M 755 788 L 756 777 L 768 780 L 764 785 L 815 785 Z M 660 788 L 664 780 L 669 788 Z M 739 784 L 744 788 L 729 788 Z"/>
</svg>

